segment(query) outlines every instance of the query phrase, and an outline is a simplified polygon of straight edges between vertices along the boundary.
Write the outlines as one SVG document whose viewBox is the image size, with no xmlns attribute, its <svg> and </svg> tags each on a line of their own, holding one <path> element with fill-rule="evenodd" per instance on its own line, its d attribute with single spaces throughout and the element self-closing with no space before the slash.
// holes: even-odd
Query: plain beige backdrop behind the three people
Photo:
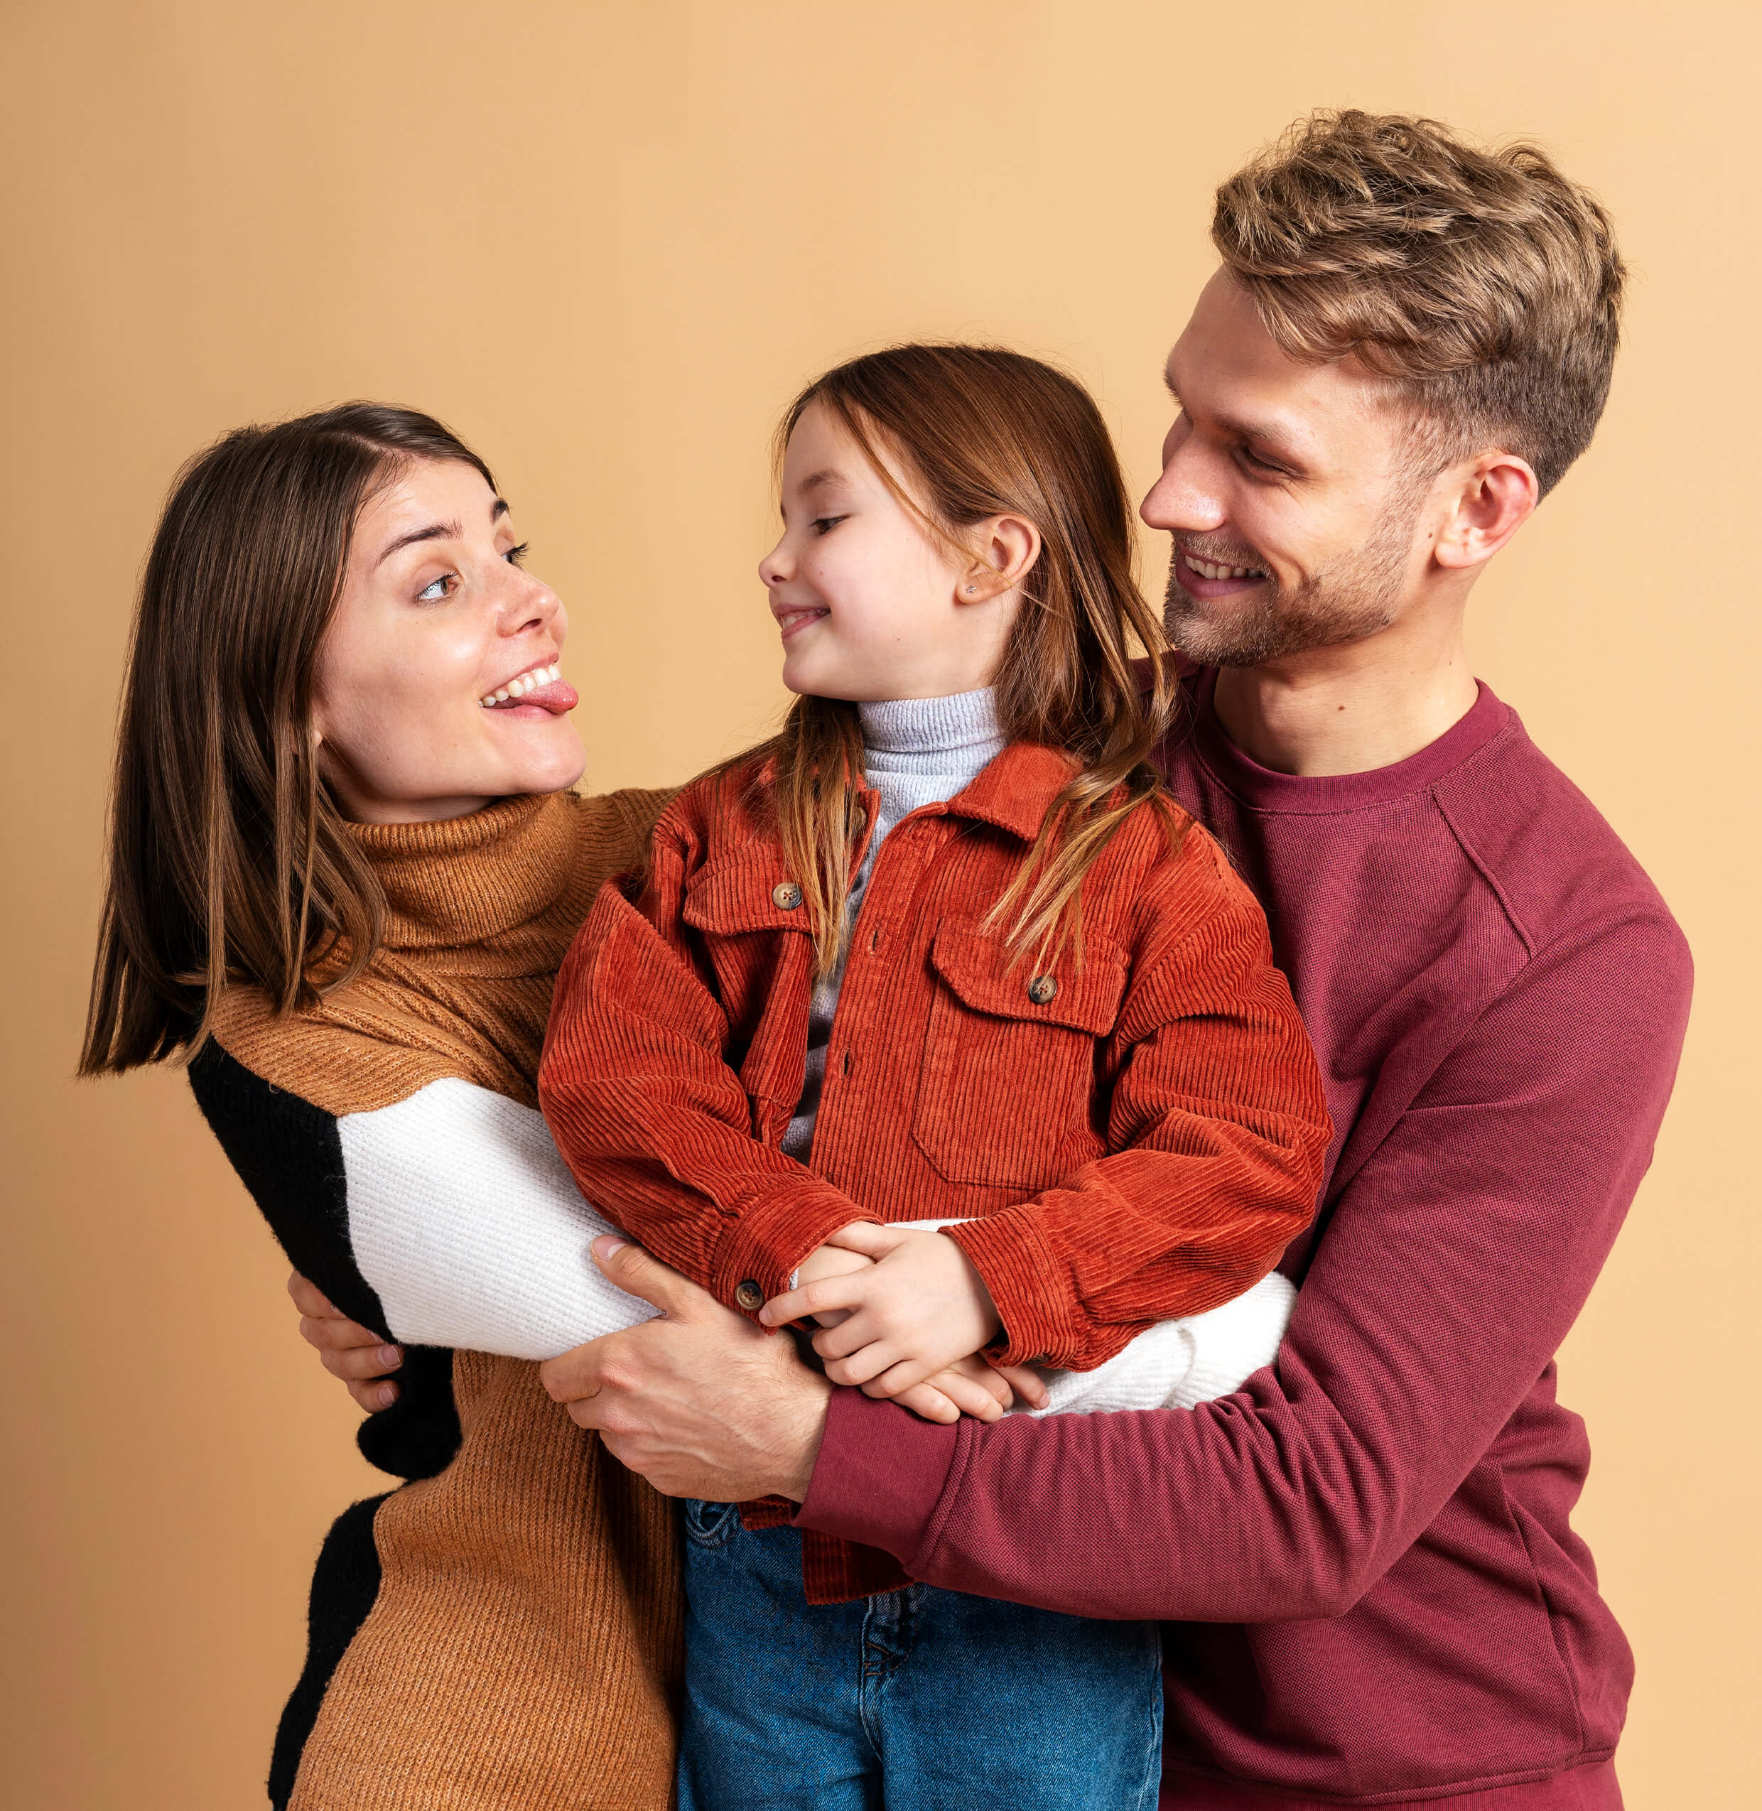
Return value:
<svg viewBox="0 0 1762 1811">
<path fill-rule="evenodd" d="M 1657 1166 L 1561 1373 L 1639 1652 L 1628 1802 L 1755 1804 L 1757 11 L 13 0 L 0 29 L 7 1800 L 259 1802 L 313 1550 L 378 1487 L 181 1078 L 67 1079 L 177 462 L 355 395 L 436 411 L 572 607 L 590 782 L 677 779 L 780 697 L 752 569 L 804 377 L 905 335 L 1039 350 L 1143 487 L 1211 187 L 1360 103 L 1539 136 L 1635 266 L 1603 431 L 1472 648 L 1699 960 Z"/>
</svg>

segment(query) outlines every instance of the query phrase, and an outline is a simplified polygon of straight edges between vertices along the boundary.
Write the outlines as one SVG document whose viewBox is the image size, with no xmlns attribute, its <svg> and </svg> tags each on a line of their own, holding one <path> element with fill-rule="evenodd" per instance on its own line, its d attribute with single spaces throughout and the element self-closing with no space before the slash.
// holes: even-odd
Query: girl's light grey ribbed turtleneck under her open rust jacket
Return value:
<svg viewBox="0 0 1762 1811">
<path fill-rule="evenodd" d="M 846 904 L 846 924 L 853 929 L 869 875 L 875 873 L 875 855 L 893 826 L 920 806 L 953 799 L 1003 753 L 989 688 L 956 692 L 953 697 L 889 699 L 857 708 L 862 714 L 862 770 L 875 788 L 876 810 L 875 833 Z M 826 1079 L 826 1043 L 842 982 L 840 960 L 837 971 L 815 987 L 808 1009 L 808 1076 L 782 1139 L 782 1148 L 799 1161 L 806 1161 L 813 1148 L 813 1117 L 820 1107 L 820 1083 Z"/>
</svg>

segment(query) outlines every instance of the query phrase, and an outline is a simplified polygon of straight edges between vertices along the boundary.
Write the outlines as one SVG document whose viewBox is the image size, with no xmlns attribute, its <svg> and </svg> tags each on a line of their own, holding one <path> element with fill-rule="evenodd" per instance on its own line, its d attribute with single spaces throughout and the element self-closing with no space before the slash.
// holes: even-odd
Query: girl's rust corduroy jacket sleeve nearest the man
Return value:
<svg viewBox="0 0 1762 1811">
<path fill-rule="evenodd" d="M 998 1306 L 1005 1364 L 1094 1369 L 1253 1288 L 1315 1213 L 1331 1123 L 1260 907 L 1195 833 L 1143 915 L 1105 1052 L 1112 1154 L 945 1228 Z"/>
</svg>

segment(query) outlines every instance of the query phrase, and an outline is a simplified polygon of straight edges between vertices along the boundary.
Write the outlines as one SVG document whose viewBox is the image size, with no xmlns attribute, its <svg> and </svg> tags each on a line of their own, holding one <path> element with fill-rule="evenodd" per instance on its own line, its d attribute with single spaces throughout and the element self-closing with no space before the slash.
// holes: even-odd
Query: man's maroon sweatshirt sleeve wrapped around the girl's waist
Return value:
<svg viewBox="0 0 1762 1811">
<path fill-rule="evenodd" d="M 1583 1308 L 1652 1159 L 1688 994 L 1657 915 L 1539 951 L 1345 1184 L 1278 1364 L 1242 1393 L 933 1427 L 837 1391 L 797 1521 L 925 1583 L 1079 1615 L 1342 1615 Z"/>
</svg>

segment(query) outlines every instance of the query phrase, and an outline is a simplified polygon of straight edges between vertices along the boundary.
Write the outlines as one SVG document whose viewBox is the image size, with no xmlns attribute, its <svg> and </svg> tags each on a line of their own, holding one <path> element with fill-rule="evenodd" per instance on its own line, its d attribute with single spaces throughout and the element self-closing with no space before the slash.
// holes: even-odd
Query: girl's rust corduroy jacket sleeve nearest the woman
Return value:
<svg viewBox="0 0 1762 1811">
<path fill-rule="evenodd" d="M 690 949 L 686 878 L 663 819 L 641 907 L 601 889 L 558 974 L 538 1099 L 589 1199 L 753 1313 L 828 1233 L 875 1215 L 753 1135 L 728 1014 Z"/>
</svg>

